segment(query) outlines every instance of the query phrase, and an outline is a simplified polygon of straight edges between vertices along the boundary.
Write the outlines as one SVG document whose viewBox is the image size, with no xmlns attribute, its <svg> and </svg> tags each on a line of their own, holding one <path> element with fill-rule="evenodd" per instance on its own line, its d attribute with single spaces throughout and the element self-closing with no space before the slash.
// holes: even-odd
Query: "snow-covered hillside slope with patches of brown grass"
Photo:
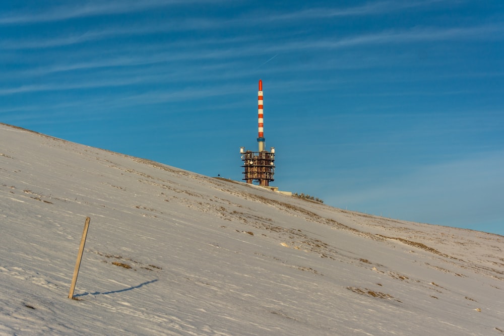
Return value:
<svg viewBox="0 0 504 336">
<path fill-rule="evenodd" d="M 504 334 L 499 235 L 335 209 L 5 124 L 0 177 L 0 334 Z"/>
</svg>

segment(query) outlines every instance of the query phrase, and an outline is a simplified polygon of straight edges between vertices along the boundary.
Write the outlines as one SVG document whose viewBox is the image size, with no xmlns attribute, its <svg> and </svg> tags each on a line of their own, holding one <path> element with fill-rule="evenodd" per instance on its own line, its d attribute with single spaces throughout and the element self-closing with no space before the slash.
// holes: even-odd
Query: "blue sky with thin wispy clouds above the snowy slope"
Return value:
<svg viewBox="0 0 504 336">
<path fill-rule="evenodd" d="M 262 79 L 272 185 L 504 235 L 500 0 L 4 1 L 0 73 L 0 122 L 234 180 Z"/>
</svg>

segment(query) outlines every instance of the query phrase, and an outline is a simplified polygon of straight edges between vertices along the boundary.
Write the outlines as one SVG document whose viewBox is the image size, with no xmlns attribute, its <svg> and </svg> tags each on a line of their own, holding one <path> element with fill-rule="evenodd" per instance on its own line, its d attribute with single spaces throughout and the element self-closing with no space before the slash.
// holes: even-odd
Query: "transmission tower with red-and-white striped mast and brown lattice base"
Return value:
<svg viewBox="0 0 504 336">
<path fill-rule="evenodd" d="M 274 181 L 275 173 L 275 148 L 271 147 L 268 152 L 265 150 L 266 141 L 264 139 L 264 112 L 263 112 L 263 81 L 259 80 L 258 91 L 258 138 L 259 151 L 245 151 L 240 148 L 241 160 L 244 168 L 243 180 L 246 183 L 259 182 L 261 186 L 269 186 Z"/>
</svg>

